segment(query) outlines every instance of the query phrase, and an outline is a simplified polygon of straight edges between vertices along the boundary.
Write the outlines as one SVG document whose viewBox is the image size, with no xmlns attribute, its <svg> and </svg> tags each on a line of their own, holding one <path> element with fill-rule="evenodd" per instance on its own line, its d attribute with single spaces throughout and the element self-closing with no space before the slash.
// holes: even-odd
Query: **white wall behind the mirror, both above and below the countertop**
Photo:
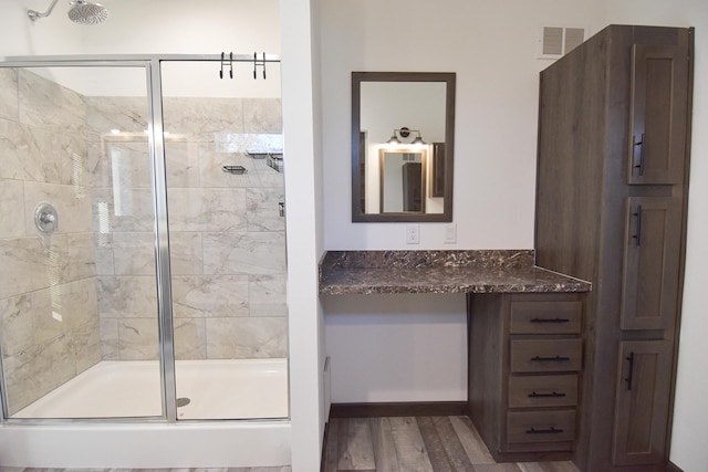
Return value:
<svg viewBox="0 0 708 472">
<path fill-rule="evenodd" d="M 326 249 L 533 248 L 538 73 L 551 64 L 538 59 L 539 32 L 542 25 L 580 25 L 594 33 L 605 25 L 603 6 L 590 0 L 320 4 Z M 420 244 L 407 245 L 405 224 L 351 222 L 352 71 L 457 73 L 456 244 L 442 243 L 444 223 L 421 223 Z M 434 300 L 325 298 L 334 402 L 467 398 L 465 300 Z M 403 353 L 415 361 L 403 361 Z"/>
</svg>

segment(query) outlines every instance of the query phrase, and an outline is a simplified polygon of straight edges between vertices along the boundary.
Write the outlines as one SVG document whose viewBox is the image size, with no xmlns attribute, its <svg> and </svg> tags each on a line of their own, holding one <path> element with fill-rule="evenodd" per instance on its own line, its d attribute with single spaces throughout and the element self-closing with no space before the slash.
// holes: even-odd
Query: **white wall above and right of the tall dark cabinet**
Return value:
<svg viewBox="0 0 708 472">
<path fill-rule="evenodd" d="M 671 461 L 686 472 L 705 471 L 708 448 L 708 316 L 702 300 L 708 280 L 708 2 L 705 0 L 612 0 L 607 22 L 696 28 L 694 118 L 688 242 Z"/>
</svg>

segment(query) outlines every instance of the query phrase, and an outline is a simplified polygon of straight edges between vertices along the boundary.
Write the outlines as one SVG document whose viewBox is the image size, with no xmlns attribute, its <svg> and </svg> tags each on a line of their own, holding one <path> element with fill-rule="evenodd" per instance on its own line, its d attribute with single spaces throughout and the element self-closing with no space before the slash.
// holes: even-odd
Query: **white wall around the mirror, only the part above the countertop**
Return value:
<svg viewBox="0 0 708 472">
<path fill-rule="evenodd" d="M 541 25 L 604 27 L 592 1 L 320 1 L 327 249 L 412 249 L 404 224 L 352 223 L 351 72 L 457 73 L 457 244 L 533 247 Z M 510 14 L 510 13 L 513 14 Z M 403 126 L 403 125 L 402 125 Z M 445 224 L 420 227 L 415 249 L 441 248 Z"/>
</svg>

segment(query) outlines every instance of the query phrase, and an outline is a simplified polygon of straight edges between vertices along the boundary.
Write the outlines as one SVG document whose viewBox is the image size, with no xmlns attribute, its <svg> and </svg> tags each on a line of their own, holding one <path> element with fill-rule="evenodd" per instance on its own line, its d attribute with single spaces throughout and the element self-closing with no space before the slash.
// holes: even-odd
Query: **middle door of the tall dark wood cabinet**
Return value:
<svg viewBox="0 0 708 472">
<path fill-rule="evenodd" d="M 675 197 L 629 197 L 622 329 L 665 329 L 678 297 L 681 214 Z"/>
</svg>

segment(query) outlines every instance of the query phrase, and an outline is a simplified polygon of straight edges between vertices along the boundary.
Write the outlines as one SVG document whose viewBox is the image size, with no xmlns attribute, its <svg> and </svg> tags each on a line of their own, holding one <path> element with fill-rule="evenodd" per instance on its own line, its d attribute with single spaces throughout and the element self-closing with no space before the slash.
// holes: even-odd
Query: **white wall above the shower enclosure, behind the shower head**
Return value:
<svg viewBox="0 0 708 472">
<path fill-rule="evenodd" d="M 48 18 L 31 22 L 27 9 L 45 11 L 51 0 L 3 0 L 1 56 L 56 54 L 216 54 L 280 51 L 274 0 L 105 0 L 110 19 L 81 25 L 60 1 Z M 252 77 L 252 76 L 251 76 Z"/>
</svg>

